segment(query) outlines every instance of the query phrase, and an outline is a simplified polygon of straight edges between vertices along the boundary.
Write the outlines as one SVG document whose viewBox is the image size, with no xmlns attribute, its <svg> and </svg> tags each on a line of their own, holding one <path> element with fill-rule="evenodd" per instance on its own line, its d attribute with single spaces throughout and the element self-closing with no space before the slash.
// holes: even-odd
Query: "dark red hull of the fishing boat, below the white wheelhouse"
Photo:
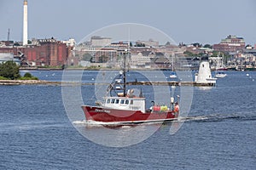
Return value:
<svg viewBox="0 0 256 170">
<path fill-rule="evenodd" d="M 163 122 L 177 117 L 174 111 L 146 112 L 115 110 L 103 107 L 83 105 L 87 121 L 96 122 Z"/>
</svg>

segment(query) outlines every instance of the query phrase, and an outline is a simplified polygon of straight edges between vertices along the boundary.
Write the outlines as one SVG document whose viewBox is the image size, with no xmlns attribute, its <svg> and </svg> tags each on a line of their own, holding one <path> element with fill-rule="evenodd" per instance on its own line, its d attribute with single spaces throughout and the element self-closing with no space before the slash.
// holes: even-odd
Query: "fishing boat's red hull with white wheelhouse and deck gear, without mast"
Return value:
<svg viewBox="0 0 256 170">
<path fill-rule="evenodd" d="M 107 97 L 100 106 L 82 105 L 82 108 L 86 121 L 96 122 L 166 122 L 177 117 L 177 111 L 166 105 L 154 105 L 152 110 L 145 111 L 144 104 L 145 98 Z"/>
</svg>

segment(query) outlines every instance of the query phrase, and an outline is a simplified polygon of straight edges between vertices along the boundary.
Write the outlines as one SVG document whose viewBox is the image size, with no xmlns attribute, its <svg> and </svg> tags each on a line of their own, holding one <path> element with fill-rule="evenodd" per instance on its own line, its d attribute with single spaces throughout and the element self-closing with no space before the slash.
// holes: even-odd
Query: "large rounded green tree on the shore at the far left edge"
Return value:
<svg viewBox="0 0 256 170">
<path fill-rule="evenodd" d="M 12 60 L 0 64 L 0 77 L 6 77 L 12 80 L 20 78 L 19 65 L 16 65 Z"/>
</svg>

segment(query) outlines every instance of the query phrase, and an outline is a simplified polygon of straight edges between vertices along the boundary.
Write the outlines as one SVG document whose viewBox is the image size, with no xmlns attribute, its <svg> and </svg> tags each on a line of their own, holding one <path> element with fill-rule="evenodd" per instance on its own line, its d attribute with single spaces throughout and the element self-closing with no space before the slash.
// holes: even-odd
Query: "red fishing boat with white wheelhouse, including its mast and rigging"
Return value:
<svg viewBox="0 0 256 170">
<path fill-rule="evenodd" d="M 111 95 L 113 90 L 117 96 Z M 179 108 L 177 103 L 174 103 L 174 98 L 168 102 L 169 106 L 154 105 L 152 101 L 153 105 L 146 109 L 146 99 L 143 97 L 142 89 L 138 96 L 133 94 L 133 89 L 126 92 L 125 69 L 119 72 L 119 78 L 109 85 L 107 91 L 110 96 L 103 97 L 102 102 L 96 102 L 95 106 L 82 105 L 87 122 L 142 123 L 177 119 Z"/>
</svg>

